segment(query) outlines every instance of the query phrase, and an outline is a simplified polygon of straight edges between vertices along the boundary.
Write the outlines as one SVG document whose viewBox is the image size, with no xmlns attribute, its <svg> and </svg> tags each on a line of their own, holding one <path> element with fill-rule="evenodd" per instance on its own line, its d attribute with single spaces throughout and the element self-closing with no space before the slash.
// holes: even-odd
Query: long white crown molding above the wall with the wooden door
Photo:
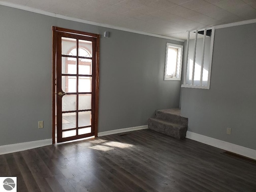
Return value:
<svg viewBox="0 0 256 192">
<path fill-rule="evenodd" d="M 39 13 L 39 14 L 43 14 L 43 15 L 47 15 L 47 16 L 52 16 L 52 17 L 56 17 L 56 18 L 66 19 L 66 20 L 70 20 L 70 21 L 76 21 L 76 22 L 80 22 L 80 23 L 86 23 L 86 24 L 90 24 L 90 25 L 112 28 L 112 29 L 121 30 L 121 31 L 127 31 L 127 32 L 142 34 L 142 35 L 148 35 L 148 36 L 153 36 L 153 37 L 158 37 L 158 38 L 164 38 L 164 39 L 170 39 L 170 40 L 174 40 L 174 41 L 185 42 L 185 40 L 183 40 L 183 39 L 168 37 L 168 36 L 164 36 L 164 35 L 157 35 L 157 34 L 152 34 L 152 33 L 147 33 L 147 32 L 142 32 L 142 31 L 131 30 L 131 29 L 128 29 L 128 28 L 123 28 L 123 27 L 118 27 L 118 26 L 114 26 L 114 25 L 88 21 L 88 20 L 85 20 L 85 19 L 73 18 L 73 17 L 61 15 L 61 14 L 56 14 L 56 13 L 51 13 L 51 12 L 39 10 L 39 9 L 36 9 L 36 8 L 31 8 L 31 7 L 24 6 L 24 5 L 18 5 L 18 4 L 14 4 L 14 3 L 10 3 L 10 2 L 5 2 L 5 1 L 2 1 L 2 0 L 0 0 L 0 5 L 13 7 L 13 8 L 21 9 L 21 10 L 26 10 L 26 11 L 30 11 L 30 12 L 34 12 L 34 13 Z"/>
</svg>

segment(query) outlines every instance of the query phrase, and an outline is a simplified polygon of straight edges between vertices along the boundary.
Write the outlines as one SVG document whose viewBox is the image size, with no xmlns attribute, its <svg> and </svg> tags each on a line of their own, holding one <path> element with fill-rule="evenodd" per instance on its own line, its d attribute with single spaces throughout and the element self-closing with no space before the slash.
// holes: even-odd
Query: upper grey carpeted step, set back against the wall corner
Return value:
<svg viewBox="0 0 256 192">
<path fill-rule="evenodd" d="M 156 110 L 155 118 L 188 126 L 188 118 L 180 116 L 180 108 Z"/>
</svg>

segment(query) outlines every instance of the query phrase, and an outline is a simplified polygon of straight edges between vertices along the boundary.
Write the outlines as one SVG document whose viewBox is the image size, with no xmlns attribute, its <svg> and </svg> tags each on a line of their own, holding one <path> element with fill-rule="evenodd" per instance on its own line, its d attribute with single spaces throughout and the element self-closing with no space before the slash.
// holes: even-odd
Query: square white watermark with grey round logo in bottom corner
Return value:
<svg viewBox="0 0 256 192">
<path fill-rule="evenodd" d="M 0 192 L 17 192 L 17 177 L 0 177 Z"/>
</svg>

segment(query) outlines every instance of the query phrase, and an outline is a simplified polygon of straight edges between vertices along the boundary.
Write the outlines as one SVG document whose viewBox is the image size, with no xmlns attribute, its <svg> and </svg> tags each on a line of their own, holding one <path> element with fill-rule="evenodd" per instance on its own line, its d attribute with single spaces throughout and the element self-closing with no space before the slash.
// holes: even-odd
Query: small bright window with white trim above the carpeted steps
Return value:
<svg viewBox="0 0 256 192">
<path fill-rule="evenodd" d="M 166 44 L 164 80 L 180 80 L 182 51 L 182 45 Z"/>
</svg>

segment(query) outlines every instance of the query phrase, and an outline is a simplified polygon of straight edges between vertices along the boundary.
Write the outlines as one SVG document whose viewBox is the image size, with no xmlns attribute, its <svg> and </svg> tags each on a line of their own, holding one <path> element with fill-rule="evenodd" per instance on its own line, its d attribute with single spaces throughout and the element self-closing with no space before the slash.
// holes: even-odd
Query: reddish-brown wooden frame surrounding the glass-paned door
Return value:
<svg viewBox="0 0 256 192">
<path fill-rule="evenodd" d="M 78 30 L 71 30 L 52 26 L 52 144 L 55 144 L 55 124 L 56 124 L 56 32 L 67 32 L 96 38 L 96 74 L 95 74 L 95 128 L 94 136 L 98 137 L 98 108 L 99 108 L 99 62 L 100 62 L 100 35 Z"/>
</svg>

